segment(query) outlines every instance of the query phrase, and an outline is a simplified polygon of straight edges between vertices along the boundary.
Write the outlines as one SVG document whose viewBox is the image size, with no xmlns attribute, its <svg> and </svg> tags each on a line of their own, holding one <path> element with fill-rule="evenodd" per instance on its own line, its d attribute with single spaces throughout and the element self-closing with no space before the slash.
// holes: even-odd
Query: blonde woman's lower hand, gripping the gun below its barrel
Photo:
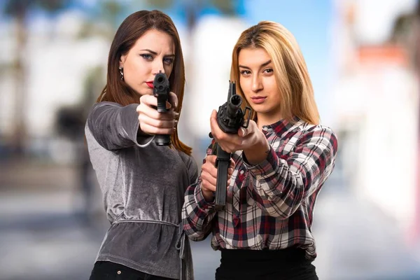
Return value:
<svg viewBox="0 0 420 280">
<path fill-rule="evenodd" d="M 207 155 L 202 165 L 202 194 L 207 202 L 214 200 L 213 193 L 216 192 L 216 181 L 217 181 L 217 168 L 216 168 L 216 155 Z M 235 162 L 230 159 L 230 167 L 228 169 L 228 181 L 226 182 L 226 188 L 230 185 L 230 177 L 233 174 L 235 168 Z"/>
</svg>

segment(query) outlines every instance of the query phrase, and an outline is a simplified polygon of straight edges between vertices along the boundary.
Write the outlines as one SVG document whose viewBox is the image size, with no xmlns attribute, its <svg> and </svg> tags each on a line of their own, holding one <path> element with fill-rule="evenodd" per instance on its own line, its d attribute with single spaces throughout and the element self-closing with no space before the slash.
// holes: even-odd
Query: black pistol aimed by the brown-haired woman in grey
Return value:
<svg viewBox="0 0 420 280">
<path fill-rule="evenodd" d="M 165 73 L 159 72 L 153 80 L 153 95 L 158 98 L 158 112 L 167 112 L 166 104 L 169 101 L 169 80 Z M 171 135 L 156 134 L 155 143 L 158 146 L 168 146 L 171 144 Z"/>
</svg>

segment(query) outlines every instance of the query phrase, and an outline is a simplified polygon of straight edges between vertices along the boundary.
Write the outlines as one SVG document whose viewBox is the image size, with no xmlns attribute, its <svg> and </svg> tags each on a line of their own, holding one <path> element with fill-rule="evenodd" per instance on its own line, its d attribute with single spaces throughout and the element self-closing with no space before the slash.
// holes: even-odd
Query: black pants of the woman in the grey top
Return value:
<svg viewBox="0 0 420 280">
<path fill-rule="evenodd" d="M 139 272 L 115 262 L 95 262 L 89 280 L 174 280 Z"/>
</svg>

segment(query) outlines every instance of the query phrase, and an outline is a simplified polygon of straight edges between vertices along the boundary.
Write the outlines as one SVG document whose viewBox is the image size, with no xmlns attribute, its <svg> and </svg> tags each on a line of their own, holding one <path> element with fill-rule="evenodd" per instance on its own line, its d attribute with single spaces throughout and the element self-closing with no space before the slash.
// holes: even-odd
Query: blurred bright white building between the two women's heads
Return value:
<svg viewBox="0 0 420 280">
<path fill-rule="evenodd" d="M 197 159 L 210 144 L 211 111 L 228 100 L 232 50 L 246 27 L 245 20 L 233 15 L 206 15 L 190 34 L 184 113 L 189 116 L 188 134 L 197 139 Z"/>
</svg>

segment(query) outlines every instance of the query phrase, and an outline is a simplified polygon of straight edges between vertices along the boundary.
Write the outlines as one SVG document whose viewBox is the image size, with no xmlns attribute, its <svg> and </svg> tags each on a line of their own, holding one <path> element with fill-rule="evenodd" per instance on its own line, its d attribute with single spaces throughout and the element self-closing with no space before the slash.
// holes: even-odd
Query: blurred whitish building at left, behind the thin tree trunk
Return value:
<svg viewBox="0 0 420 280">
<path fill-rule="evenodd" d="M 25 150 L 29 154 L 44 155 L 57 161 L 71 161 L 71 143 L 57 139 L 57 111 L 62 106 L 83 107 L 87 101 L 86 83 L 97 68 L 105 69 L 109 41 L 97 34 L 83 37 L 87 19 L 75 10 L 57 15 L 57 19 L 35 18 L 27 29 L 27 41 L 23 50 L 25 77 L 15 80 L 10 71 L 0 80 L 0 137 L 10 145 L 13 134 L 15 111 L 15 83 L 25 90 L 25 102 L 20 109 L 26 127 Z M 54 23 L 54 24 L 52 24 Z M 0 49 L 6 53 L 13 49 L 15 33 L 13 20 L 1 22 L 4 30 L 0 36 Z M 71 46 L 71 47 L 69 47 Z M 89 55 L 86 55 L 89 54 Z M 3 64 L 12 56 L 0 57 Z M 9 61 L 9 62 L 10 62 Z M 104 80 L 104 73 L 101 73 Z M 103 86 L 102 83 L 101 86 Z M 95 95 L 99 88 L 95 88 Z M 90 104 L 86 104 L 91 106 Z M 9 141 L 9 143 L 7 143 Z M 69 153 L 66 154 L 66 151 Z"/>
</svg>

